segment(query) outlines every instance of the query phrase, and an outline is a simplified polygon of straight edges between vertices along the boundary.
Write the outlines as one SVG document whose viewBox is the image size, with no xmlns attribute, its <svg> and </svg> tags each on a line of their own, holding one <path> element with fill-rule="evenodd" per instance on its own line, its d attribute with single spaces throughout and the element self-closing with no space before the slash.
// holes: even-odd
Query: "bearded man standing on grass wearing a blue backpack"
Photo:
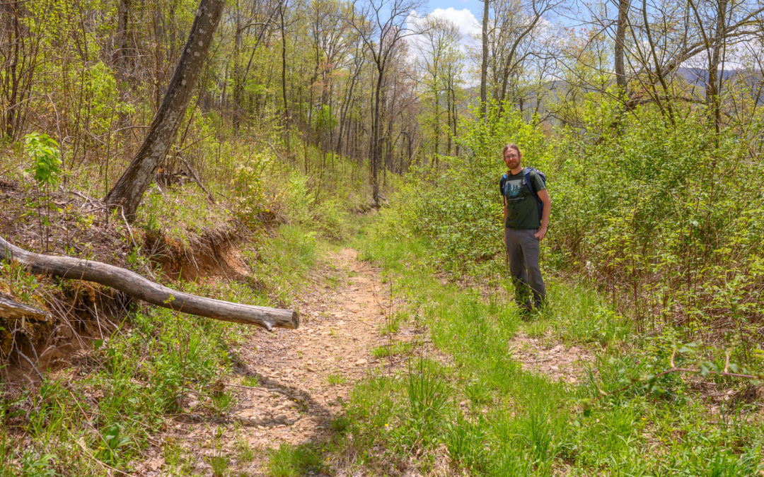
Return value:
<svg viewBox="0 0 764 477">
<path fill-rule="evenodd" d="M 539 218 L 539 202 L 526 183 L 526 171 L 520 166 L 520 147 L 507 144 L 502 155 L 508 169 L 499 182 L 504 204 L 504 243 L 515 285 L 515 299 L 520 308 L 528 312 L 541 307 L 545 301 L 544 279 L 539 269 L 539 242 L 546 235 L 552 201 L 542 177 L 535 171 L 529 172 L 531 185 L 543 204 Z"/>
</svg>

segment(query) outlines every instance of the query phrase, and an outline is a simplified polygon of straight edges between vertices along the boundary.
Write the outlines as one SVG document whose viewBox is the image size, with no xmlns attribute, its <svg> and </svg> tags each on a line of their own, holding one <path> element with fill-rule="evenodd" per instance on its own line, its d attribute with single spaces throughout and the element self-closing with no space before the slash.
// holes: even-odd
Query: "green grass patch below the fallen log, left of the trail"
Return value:
<svg viewBox="0 0 764 477">
<path fill-rule="evenodd" d="M 21 475 L 53 469 L 95 475 L 101 472 L 98 461 L 129 471 L 163 414 L 180 411 L 183 395 L 193 391 L 197 399 L 214 402 L 208 390 L 230 372 L 222 343 L 235 330 L 236 325 L 197 324 L 160 308 L 136 314 L 130 330 L 115 333 L 91 353 L 95 366 L 84 379 L 50 376 L 36 395 L 0 402 L 6 411 L 23 408 L 27 415 L 25 422 L 11 424 L 14 437 L 4 434 L 16 449 L 6 457 L 36 468 Z M 31 439 L 28 445 L 15 440 L 24 434 Z M 73 441 L 79 446 L 72 447 Z M 179 446 L 166 445 L 163 453 L 171 466 L 182 466 Z M 3 475 L 17 475 L 4 467 Z"/>
</svg>

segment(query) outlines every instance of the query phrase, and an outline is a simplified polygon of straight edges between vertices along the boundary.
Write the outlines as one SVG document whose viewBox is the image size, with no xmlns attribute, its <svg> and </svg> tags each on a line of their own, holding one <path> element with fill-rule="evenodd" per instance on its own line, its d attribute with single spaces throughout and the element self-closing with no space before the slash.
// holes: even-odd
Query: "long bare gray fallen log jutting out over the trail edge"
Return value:
<svg viewBox="0 0 764 477">
<path fill-rule="evenodd" d="M 290 329 L 299 327 L 299 316 L 296 311 L 242 305 L 178 292 L 151 282 L 128 269 L 69 256 L 28 252 L 11 245 L 2 237 L 0 237 L 0 253 L 2 253 L 0 259 L 21 263 L 33 272 L 100 283 L 125 292 L 133 298 L 147 301 L 151 305 L 170 308 L 174 311 L 215 318 L 215 320 L 256 324 L 266 330 L 274 327 Z"/>
</svg>

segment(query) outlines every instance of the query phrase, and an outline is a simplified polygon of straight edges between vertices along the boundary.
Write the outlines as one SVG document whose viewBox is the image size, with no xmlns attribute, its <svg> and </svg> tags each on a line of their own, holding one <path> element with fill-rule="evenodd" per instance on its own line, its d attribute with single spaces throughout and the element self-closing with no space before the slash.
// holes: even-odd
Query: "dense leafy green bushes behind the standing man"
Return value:
<svg viewBox="0 0 764 477">
<path fill-rule="evenodd" d="M 407 176 L 390 233 L 430 237 L 433 259 L 449 270 L 495 273 L 503 253 L 496 151 L 516 142 L 523 163 L 549 177 L 549 269 L 597 283 L 637 330 L 760 343 L 764 195 L 761 164 L 746 157 L 760 147 L 761 123 L 715 135 L 702 111 L 668 127 L 655 111 L 626 114 L 601 98 L 581 110 L 582 124 L 552 137 L 513 110 L 465 124 L 458 142 L 470 153 Z"/>
</svg>

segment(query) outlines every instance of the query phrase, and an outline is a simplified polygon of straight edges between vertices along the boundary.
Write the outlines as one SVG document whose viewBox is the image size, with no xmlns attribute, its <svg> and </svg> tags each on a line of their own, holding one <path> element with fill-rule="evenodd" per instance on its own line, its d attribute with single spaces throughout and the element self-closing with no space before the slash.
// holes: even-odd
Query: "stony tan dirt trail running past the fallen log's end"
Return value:
<svg viewBox="0 0 764 477">
<path fill-rule="evenodd" d="M 238 364 L 225 383 L 235 392 L 235 406 L 213 419 L 209 413 L 195 414 L 192 402 L 189 414 L 165 430 L 163 441 L 183 448 L 188 470 L 212 475 L 209 462 L 228 456 L 232 475 L 264 475 L 267 450 L 282 443 L 326 442 L 354 382 L 382 366 L 370 353 L 385 343 L 379 330 L 390 305 L 379 270 L 359 261 L 351 249 L 326 263 L 296 300 L 299 330 L 257 330 L 236 350 Z M 248 462 L 241 452 L 244 442 L 254 451 Z M 137 470 L 163 475 L 168 466 L 156 449 Z"/>
</svg>

